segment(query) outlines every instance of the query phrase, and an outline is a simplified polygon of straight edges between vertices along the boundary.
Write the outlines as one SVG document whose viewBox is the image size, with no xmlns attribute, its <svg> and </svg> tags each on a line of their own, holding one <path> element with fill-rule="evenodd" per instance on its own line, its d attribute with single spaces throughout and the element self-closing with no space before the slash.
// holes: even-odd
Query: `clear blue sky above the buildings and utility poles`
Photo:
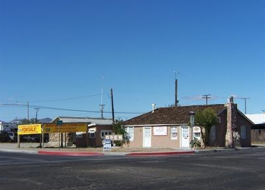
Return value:
<svg viewBox="0 0 265 190">
<path fill-rule="evenodd" d="M 175 77 L 180 105 L 211 94 L 209 104 L 234 96 L 242 112 L 241 98 L 248 114 L 265 110 L 263 0 L 1 0 L 0 10 L 2 121 L 26 118 L 27 103 L 30 118 L 37 107 L 38 118 L 99 117 L 101 99 L 111 118 L 111 88 L 115 117 L 130 119 L 173 104 Z"/>
</svg>

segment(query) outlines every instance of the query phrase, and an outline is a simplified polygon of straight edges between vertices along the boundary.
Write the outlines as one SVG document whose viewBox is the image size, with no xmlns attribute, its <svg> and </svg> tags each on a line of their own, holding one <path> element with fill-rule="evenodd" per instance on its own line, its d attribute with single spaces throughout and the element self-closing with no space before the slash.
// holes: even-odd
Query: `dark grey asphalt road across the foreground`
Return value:
<svg viewBox="0 0 265 190">
<path fill-rule="evenodd" d="M 155 157 L 0 152 L 0 189 L 265 189 L 265 148 Z"/>
</svg>

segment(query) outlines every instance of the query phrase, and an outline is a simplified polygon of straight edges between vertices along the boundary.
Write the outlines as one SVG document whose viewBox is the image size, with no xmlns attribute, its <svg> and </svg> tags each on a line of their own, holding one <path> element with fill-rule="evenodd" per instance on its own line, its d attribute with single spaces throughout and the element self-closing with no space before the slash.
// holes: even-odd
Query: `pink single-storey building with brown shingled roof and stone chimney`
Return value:
<svg viewBox="0 0 265 190">
<path fill-rule="evenodd" d="M 211 108 L 219 118 L 210 130 L 210 146 L 251 146 L 252 122 L 234 103 L 161 107 L 123 123 L 128 146 L 135 148 L 189 148 L 191 137 L 201 139 L 200 127 L 191 130 L 190 112 Z M 230 133 L 230 134 L 229 134 Z M 229 135 L 227 135 L 229 134 Z M 238 138 L 233 138 L 239 137 Z M 231 137 L 231 138 L 230 138 Z"/>
</svg>

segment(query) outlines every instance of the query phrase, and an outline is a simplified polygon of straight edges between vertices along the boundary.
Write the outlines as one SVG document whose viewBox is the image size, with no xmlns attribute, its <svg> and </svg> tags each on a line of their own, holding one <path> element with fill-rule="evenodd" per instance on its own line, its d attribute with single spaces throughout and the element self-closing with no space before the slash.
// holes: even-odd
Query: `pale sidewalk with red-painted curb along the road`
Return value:
<svg viewBox="0 0 265 190">
<path fill-rule="evenodd" d="M 13 153 L 31 153 L 39 155 L 71 155 L 71 156 L 93 156 L 93 155 L 125 155 L 125 156 L 152 156 L 152 155 L 180 155 L 194 154 L 191 149 L 173 148 L 130 148 L 112 147 L 111 150 L 103 151 L 103 148 L 37 148 L 38 143 L 21 143 L 17 148 L 16 143 L 0 143 L 0 151 Z"/>
</svg>

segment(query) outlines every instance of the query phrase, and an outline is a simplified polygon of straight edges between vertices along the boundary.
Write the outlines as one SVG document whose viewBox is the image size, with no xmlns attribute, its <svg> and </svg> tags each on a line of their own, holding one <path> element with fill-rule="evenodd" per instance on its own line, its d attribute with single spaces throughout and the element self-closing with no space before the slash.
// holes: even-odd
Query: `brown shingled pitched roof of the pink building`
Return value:
<svg viewBox="0 0 265 190">
<path fill-rule="evenodd" d="M 161 107 L 154 112 L 136 116 L 132 119 L 123 122 L 123 126 L 139 126 L 139 125 L 162 125 L 162 124 L 187 124 L 189 123 L 189 112 L 198 112 L 205 108 L 212 108 L 216 114 L 220 114 L 226 109 L 224 104 L 214 105 L 190 105 L 178 107 Z"/>
</svg>

